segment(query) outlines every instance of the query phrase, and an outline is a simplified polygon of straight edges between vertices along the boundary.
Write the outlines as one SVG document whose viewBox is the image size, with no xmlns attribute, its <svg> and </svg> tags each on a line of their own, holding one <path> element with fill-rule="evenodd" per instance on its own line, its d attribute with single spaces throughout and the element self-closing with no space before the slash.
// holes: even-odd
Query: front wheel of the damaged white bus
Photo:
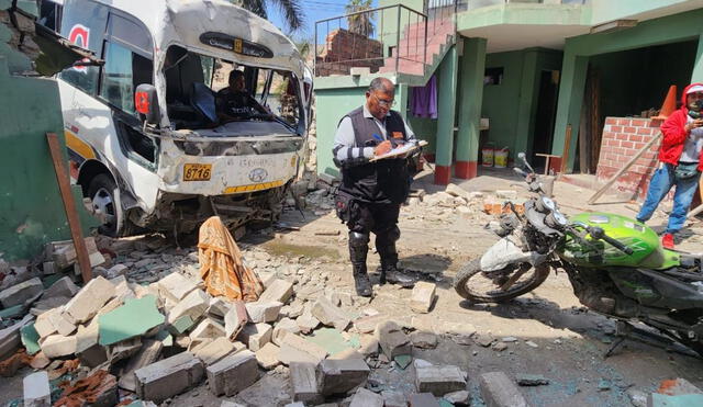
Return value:
<svg viewBox="0 0 703 407">
<path fill-rule="evenodd" d="M 92 200 L 92 208 L 100 214 L 102 225 L 100 234 L 118 237 L 124 231 L 124 211 L 120 204 L 120 190 L 108 174 L 96 176 L 88 186 L 88 196 Z"/>
</svg>

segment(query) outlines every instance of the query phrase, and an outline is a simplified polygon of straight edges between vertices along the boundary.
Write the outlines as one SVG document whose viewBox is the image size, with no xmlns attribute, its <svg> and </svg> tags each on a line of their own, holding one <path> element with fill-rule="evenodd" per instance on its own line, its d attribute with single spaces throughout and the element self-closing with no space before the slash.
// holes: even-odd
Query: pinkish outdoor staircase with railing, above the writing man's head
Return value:
<svg viewBox="0 0 703 407">
<path fill-rule="evenodd" d="M 392 48 L 390 57 L 384 58 L 379 72 L 428 78 L 454 44 L 456 26 L 451 18 L 428 21 L 426 39 L 424 22 L 408 24 L 398 46 Z"/>
</svg>

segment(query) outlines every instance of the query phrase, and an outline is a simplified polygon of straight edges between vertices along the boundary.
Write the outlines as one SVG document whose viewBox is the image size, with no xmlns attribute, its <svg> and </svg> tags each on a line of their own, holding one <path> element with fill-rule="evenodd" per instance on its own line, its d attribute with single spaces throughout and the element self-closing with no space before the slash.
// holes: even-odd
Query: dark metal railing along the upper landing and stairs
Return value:
<svg viewBox="0 0 703 407">
<path fill-rule="evenodd" d="M 354 67 L 424 76 L 432 36 L 447 23 L 456 26 L 456 3 L 429 0 L 424 12 L 397 4 L 316 21 L 315 76 L 349 75 Z"/>
</svg>

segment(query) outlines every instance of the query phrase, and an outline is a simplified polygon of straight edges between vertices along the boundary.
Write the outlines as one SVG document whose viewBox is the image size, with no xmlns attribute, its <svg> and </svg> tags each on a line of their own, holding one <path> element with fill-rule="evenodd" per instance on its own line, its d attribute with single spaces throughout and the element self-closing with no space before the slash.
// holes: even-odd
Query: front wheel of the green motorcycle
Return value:
<svg viewBox="0 0 703 407">
<path fill-rule="evenodd" d="M 480 293 L 471 290 L 468 284 L 472 278 L 488 280 L 481 273 L 481 259 L 475 259 L 466 263 L 454 278 L 454 290 L 456 290 L 460 296 L 472 303 L 502 303 L 535 290 L 539 284 L 544 283 L 548 275 L 549 267 L 547 264 L 539 264 L 533 268 L 532 275 L 524 281 L 517 281 L 506 291 L 494 290 Z"/>
</svg>

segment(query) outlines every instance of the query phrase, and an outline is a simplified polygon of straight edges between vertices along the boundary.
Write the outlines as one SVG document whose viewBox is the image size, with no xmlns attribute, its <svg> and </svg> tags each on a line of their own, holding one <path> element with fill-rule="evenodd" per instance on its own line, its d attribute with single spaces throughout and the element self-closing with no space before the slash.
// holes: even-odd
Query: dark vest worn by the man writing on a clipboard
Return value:
<svg viewBox="0 0 703 407">
<path fill-rule="evenodd" d="M 376 146 L 381 143 L 375 134 L 381 135 L 376 121 L 364 116 L 364 106 L 355 109 L 345 117 L 352 120 L 354 128 L 355 147 Z M 403 118 L 395 111 L 390 111 L 386 116 L 386 131 L 389 138 L 406 140 Z M 408 197 L 410 179 L 406 159 L 391 158 L 360 166 L 342 169 L 342 185 L 345 191 L 361 202 L 400 204 Z"/>
</svg>

